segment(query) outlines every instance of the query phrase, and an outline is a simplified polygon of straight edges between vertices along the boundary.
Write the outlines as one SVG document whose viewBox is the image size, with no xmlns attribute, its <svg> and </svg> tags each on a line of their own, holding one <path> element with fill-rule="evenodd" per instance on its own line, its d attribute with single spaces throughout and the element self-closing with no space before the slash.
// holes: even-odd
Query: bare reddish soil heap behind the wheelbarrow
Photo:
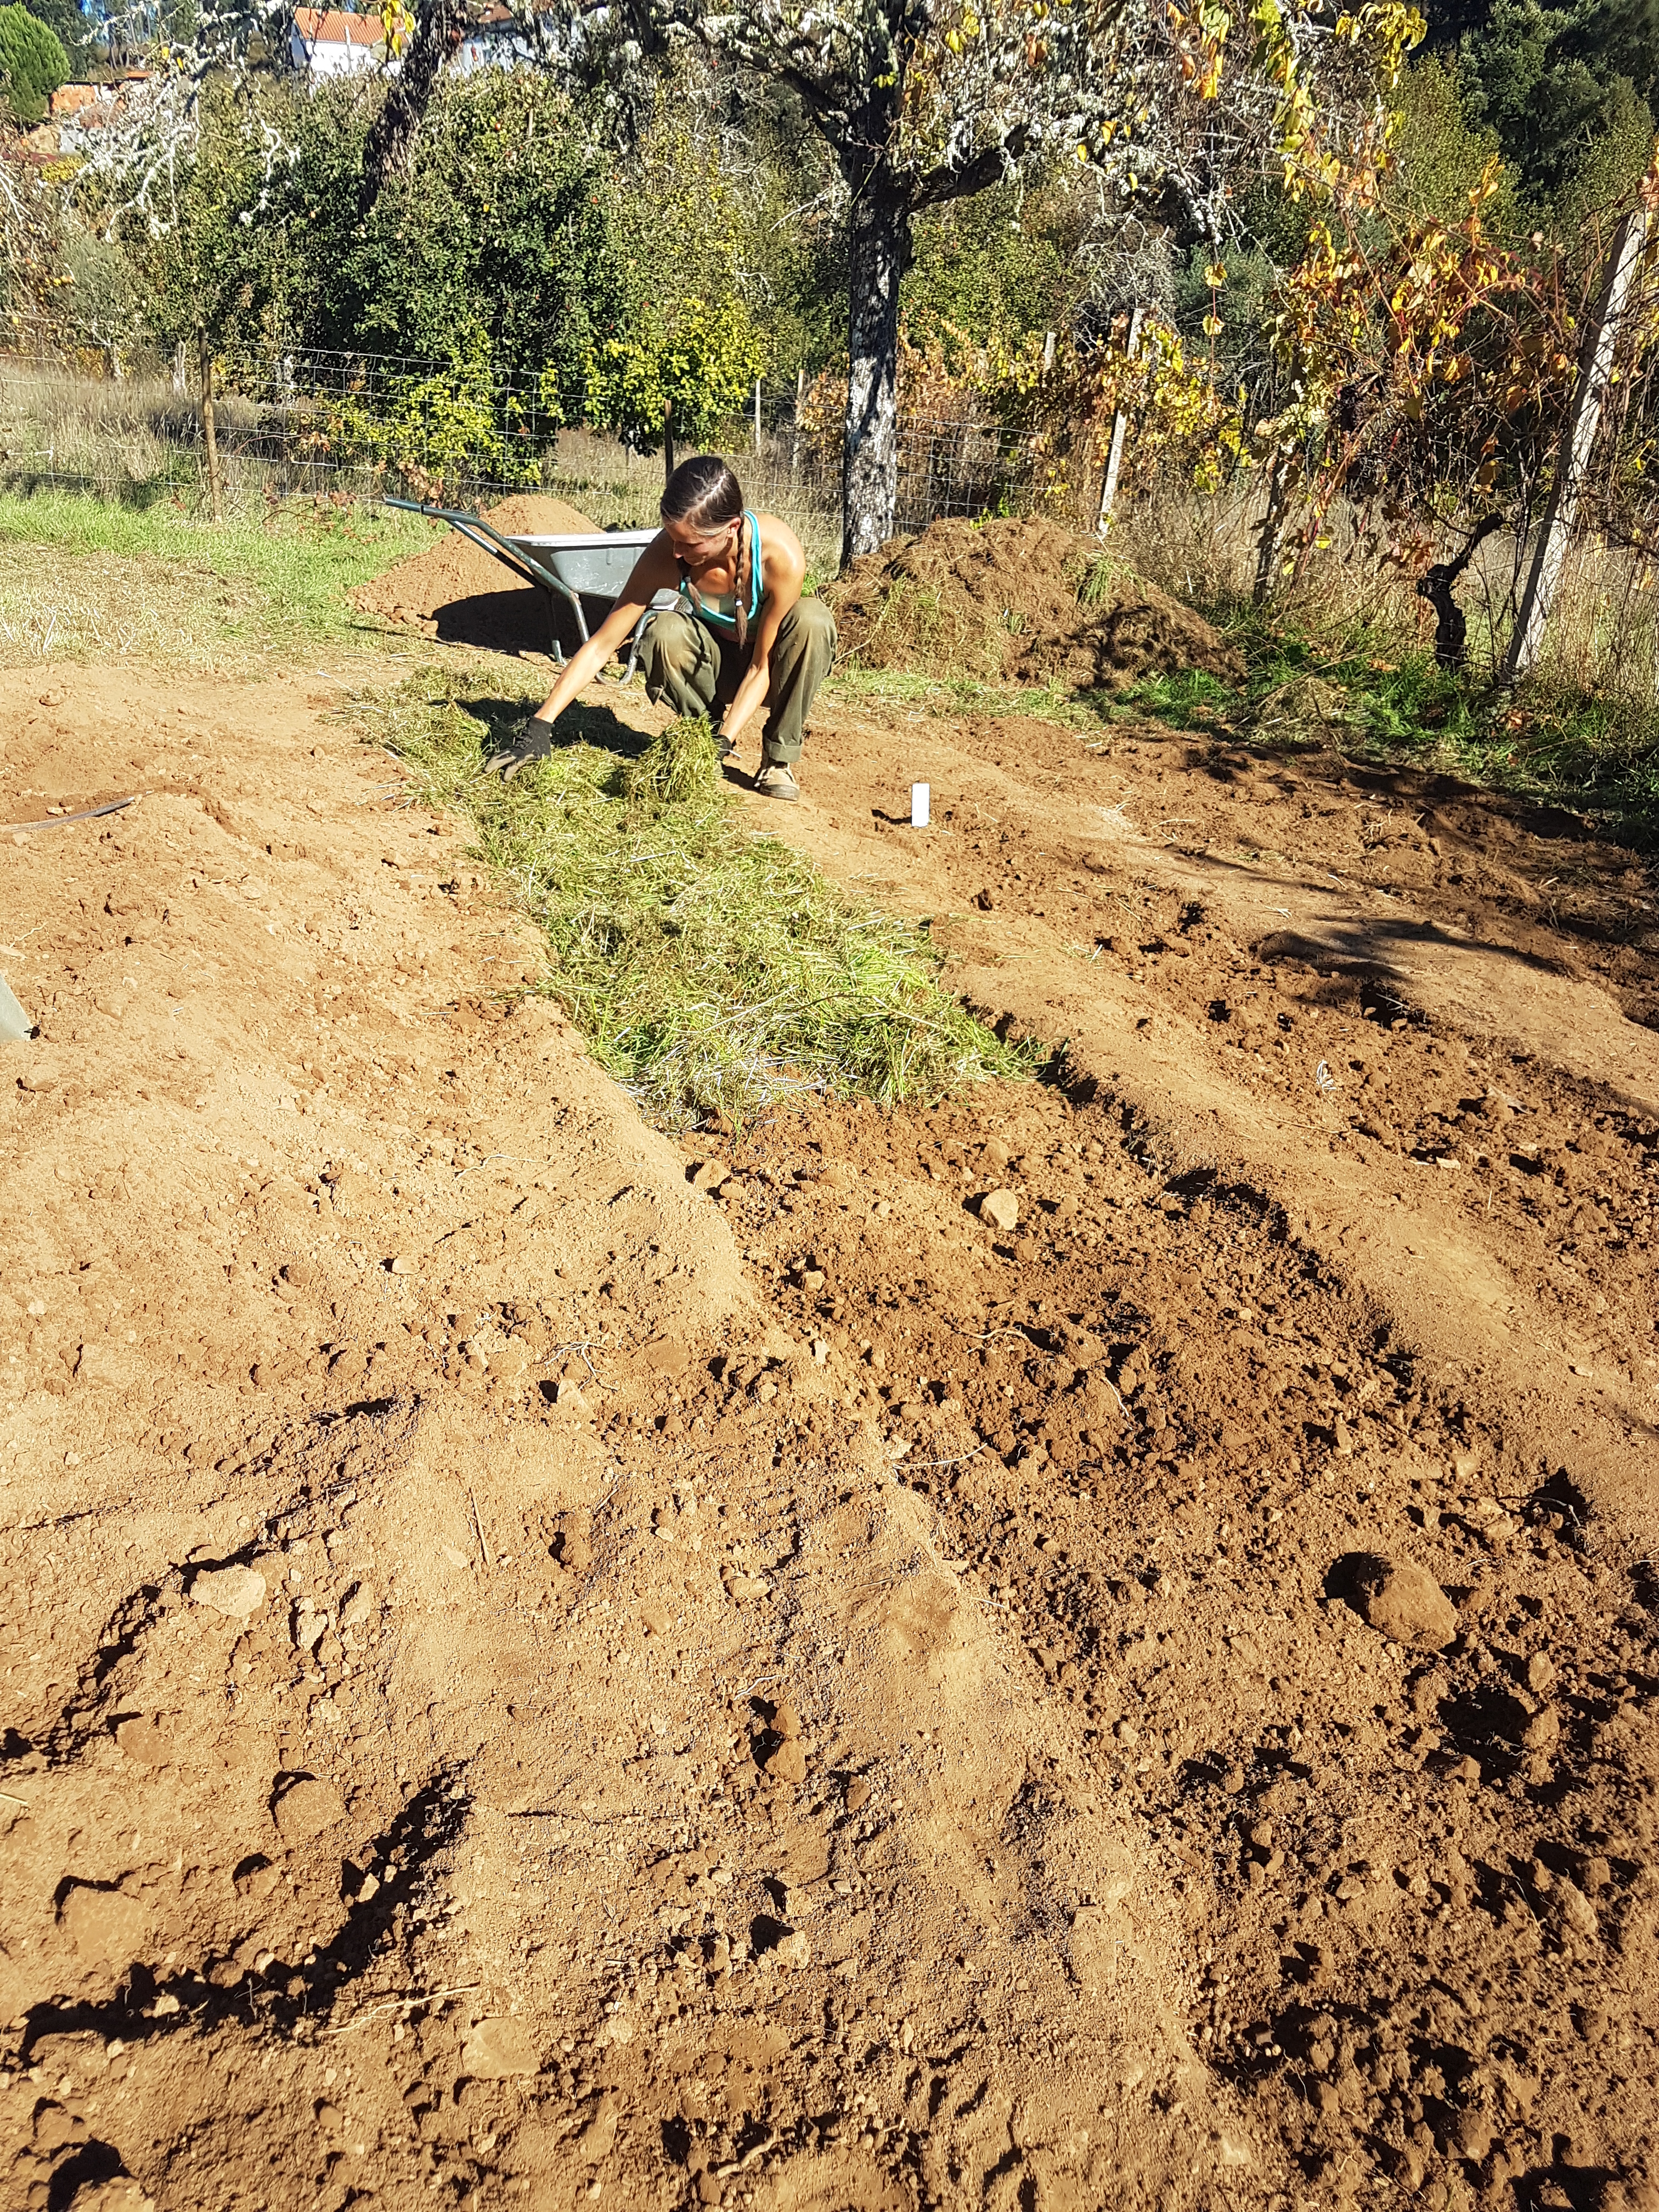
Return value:
<svg viewBox="0 0 1659 2212">
<path fill-rule="evenodd" d="M 487 509 L 484 522 L 502 538 L 577 538 L 597 531 L 599 524 L 568 507 L 538 493 L 515 493 L 498 507 Z M 352 606 L 361 615 L 378 615 L 416 628 L 427 637 L 449 644 L 491 646 L 495 650 L 546 650 L 549 617 L 546 597 L 520 582 L 511 568 L 484 553 L 471 538 L 445 529 L 442 538 L 425 553 L 411 553 L 385 575 L 358 584 Z M 560 641 L 571 650 L 580 639 L 568 606 L 555 608 Z M 568 628 L 568 637 L 566 637 Z"/>
</svg>

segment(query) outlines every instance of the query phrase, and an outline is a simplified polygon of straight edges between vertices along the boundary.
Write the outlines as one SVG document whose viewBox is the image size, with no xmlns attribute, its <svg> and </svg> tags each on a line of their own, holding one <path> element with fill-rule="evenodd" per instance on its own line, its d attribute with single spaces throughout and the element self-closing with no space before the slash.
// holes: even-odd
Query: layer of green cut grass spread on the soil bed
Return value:
<svg viewBox="0 0 1659 2212">
<path fill-rule="evenodd" d="M 635 761 L 573 734 L 500 783 L 480 761 L 511 734 L 511 701 L 469 712 L 427 672 L 376 719 L 420 794 L 471 818 L 593 1055 L 664 1126 L 741 1126 L 801 1091 L 931 1102 L 1035 1071 L 1033 1046 L 1000 1042 L 940 989 L 925 929 L 748 830 L 706 723 Z M 577 708 L 566 726 L 582 721 Z"/>
</svg>

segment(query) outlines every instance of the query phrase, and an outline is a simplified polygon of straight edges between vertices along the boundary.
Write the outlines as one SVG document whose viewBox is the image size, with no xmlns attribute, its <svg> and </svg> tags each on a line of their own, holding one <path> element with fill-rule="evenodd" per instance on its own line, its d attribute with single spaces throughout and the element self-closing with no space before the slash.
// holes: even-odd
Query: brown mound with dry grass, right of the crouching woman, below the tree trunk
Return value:
<svg viewBox="0 0 1659 2212">
<path fill-rule="evenodd" d="M 1243 661 L 1190 606 L 1104 573 L 1088 538 L 1042 515 L 936 522 L 891 538 L 825 593 L 849 659 L 911 675 L 1110 690 L 1203 668 L 1223 684 Z"/>
</svg>

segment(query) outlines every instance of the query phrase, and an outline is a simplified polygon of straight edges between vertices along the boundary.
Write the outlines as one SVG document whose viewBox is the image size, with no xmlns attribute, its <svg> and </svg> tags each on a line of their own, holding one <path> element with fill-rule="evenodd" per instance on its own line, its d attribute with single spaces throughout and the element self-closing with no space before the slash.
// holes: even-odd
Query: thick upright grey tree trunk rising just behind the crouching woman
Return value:
<svg viewBox="0 0 1659 2212">
<path fill-rule="evenodd" d="M 847 237 L 847 442 L 841 462 L 841 564 L 874 553 L 898 513 L 898 283 L 909 204 L 876 159 L 852 197 Z"/>
</svg>

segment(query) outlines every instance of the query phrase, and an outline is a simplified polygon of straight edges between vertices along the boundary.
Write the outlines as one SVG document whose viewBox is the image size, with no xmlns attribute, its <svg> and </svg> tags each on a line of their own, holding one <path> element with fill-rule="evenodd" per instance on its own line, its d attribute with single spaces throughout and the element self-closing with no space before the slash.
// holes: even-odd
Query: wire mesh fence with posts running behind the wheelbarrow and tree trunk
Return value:
<svg viewBox="0 0 1659 2212">
<path fill-rule="evenodd" d="M 0 321 L 0 487 L 80 491 L 106 500 L 208 504 L 210 447 L 201 376 L 184 349 L 117 356 L 66 349 L 55 334 Z M 573 407 L 546 378 L 487 361 L 420 361 L 372 352 L 281 349 L 217 361 L 212 467 L 219 498 L 272 504 L 296 495 L 403 493 L 478 507 L 551 491 L 599 526 L 655 515 L 661 453 L 571 427 Z M 801 383 L 750 396 L 710 436 L 752 504 L 796 522 L 834 557 L 841 515 L 838 409 Z M 942 515 L 1086 507 L 1068 480 L 1068 440 L 964 411 L 900 414 L 898 529 Z M 684 451 L 684 447 L 681 447 Z"/>
</svg>

